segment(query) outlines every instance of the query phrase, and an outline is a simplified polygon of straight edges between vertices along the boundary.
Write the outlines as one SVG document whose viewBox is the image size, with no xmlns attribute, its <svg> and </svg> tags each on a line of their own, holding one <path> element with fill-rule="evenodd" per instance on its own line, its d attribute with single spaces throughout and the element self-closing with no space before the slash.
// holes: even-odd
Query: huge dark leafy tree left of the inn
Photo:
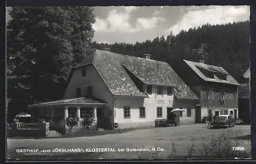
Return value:
<svg viewBox="0 0 256 164">
<path fill-rule="evenodd" d="M 27 103 L 60 99 L 71 68 L 81 60 L 84 46 L 90 48 L 92 10 L 26 7 L 13 8 L 9 14 L 12 19 L 7 24 L 8 98 Z M 81 33 L 84 38 L 80 38 Z"/>
</svg>

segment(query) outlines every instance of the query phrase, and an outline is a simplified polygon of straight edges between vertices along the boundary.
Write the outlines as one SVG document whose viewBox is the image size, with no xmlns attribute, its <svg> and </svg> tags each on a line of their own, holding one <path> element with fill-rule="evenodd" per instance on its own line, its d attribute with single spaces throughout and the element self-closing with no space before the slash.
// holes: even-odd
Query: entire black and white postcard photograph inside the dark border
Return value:
<svg viewBox="0 0 256 164">
<path fill-rule="evenodd" d="M 250 159 L 249 6 L 6 7 L 6 160 Z"/>
</svg>

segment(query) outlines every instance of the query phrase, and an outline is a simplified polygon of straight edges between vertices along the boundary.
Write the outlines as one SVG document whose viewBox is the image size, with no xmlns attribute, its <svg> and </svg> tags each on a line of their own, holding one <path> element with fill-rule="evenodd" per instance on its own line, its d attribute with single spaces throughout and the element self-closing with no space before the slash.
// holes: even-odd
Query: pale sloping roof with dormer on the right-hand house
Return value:
<svg viewBox="0 0 256 164">
<path fill-rule="evenodd" d="M 197 62 L 192 62 L 192 61 L 187 61 L 184 60 L 186 64 L 193 69 L 194 72 L 197 73 L 199 77 L 201 77 L 205 81 L 212 81 L 216 83 L 224 83 L 224 84 L 231 84 L 231 85 L 237 85 L 239 86 L 240 84 L 236 79 L 234 79 L 224 68 L 222 67 L 217 67 L 217 66 L 212 66 L 204 63 L 197 63 Z M 227 80 L 222 80 L 222 79 L 217 79 L 217 78 L 208 78 L 206 77 L 199 68 L 205 69 L 210 72 L 214 73 L 222 73 L 227 75 Z"/>
</svg>

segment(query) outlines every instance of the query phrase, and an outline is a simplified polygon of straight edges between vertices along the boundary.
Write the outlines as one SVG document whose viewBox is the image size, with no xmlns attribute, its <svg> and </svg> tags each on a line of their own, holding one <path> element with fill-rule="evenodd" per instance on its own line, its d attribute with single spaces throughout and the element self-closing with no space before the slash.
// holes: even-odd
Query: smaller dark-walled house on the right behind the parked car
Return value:
<svg viewBox="0 0 256 164">
<path fill-rule="evenodd" d="M 196 108 L 196 122 L 202 117 L 233 115 L 239 117 L 238 87 L 239 83 L 224 68 L 208 65 L 204 60 L 192 62 L 181 60 L 174 66 L 190 89 L 200 98 Z"/>
</svg>

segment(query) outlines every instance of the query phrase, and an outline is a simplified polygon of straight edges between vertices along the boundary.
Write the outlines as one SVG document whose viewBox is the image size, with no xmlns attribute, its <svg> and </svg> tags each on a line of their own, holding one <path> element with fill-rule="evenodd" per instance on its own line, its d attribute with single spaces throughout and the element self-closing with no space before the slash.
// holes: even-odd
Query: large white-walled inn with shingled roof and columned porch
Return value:
<svg viewBox="0 0 256 164">
<path fill-rule="evenodd" d="M 72 69 L 68 82 L 63 100 L 30 105 L 32 117 L 48 118 L 50 129 L 62 133 L 68 133 L 68 117 L 92 118 L 104 129 L 154 127 L 173 108 L 183 109 L 180 124 L 195 124 L 200 106 L 200 95 L 149 54 L 138 58 L 95 50 Z"/>
</svg>

